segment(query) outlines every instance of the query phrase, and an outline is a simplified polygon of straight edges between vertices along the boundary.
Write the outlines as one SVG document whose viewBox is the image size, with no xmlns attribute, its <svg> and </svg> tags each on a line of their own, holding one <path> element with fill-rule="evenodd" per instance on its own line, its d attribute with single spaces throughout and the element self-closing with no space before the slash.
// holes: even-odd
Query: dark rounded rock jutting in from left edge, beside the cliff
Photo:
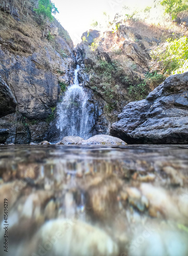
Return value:
<svg viewBox="0 0 188 256">
<path fill-rule="evenodd" d="M 0 117 L 16 112 L 16 99 L 0 75 Z"/>
</svg>

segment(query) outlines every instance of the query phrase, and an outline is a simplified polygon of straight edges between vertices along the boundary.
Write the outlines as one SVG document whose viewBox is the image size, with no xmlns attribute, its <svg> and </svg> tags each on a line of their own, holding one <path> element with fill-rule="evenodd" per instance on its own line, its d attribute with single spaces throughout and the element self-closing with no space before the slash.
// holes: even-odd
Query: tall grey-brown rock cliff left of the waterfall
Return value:
<svg viewBox="0 0 188 256">
<path fill-rule="evenodd" d="M 75 65 L 72 40 L 55 18 L 47 22 L 43 37 L 42 20 L 34 12 L 37 3 L 0 2 L 0 75 L 17 101 L 16 110 L 13 104 L 14 111 L 6 108 L 0 119 L 0 128 L 10 130 L 7 143 L 48 139 Z"/>
</svg>

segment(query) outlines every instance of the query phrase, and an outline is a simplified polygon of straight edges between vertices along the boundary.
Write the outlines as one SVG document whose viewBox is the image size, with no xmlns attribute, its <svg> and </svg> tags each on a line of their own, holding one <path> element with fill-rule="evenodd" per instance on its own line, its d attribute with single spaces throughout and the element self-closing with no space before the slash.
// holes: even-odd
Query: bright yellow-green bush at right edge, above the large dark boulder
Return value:
<svg viewBox="0 0 188 256">
<path fill-rule="evenodd" d="M 159 46 L 151 53 L 156 61 L 161 61 L 165 75 L 180 74 L 188 70 L 188 39 L 167 39 L 164 46 Z"/>
</svg>

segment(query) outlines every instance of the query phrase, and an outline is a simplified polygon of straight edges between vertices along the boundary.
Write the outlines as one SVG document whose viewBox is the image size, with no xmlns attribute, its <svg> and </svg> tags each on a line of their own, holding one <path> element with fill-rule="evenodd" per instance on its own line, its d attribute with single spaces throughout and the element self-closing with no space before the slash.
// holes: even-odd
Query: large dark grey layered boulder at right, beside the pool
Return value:
<svg viewBox="0 0 188 256">
<path fill-rule="evenodd" d="M 128 103 L 111 134 L 128 143 L 188 143 L 188 72 L 168 77 L 145 100 Z"/>
</svg>

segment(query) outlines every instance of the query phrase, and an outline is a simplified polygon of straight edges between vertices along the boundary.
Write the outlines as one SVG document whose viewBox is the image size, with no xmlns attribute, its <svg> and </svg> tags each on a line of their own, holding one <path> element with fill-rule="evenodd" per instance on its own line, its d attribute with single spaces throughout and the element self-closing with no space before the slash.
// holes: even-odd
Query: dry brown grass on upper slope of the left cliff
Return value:
<svg viewBox="0 0 188 256">
<path fill-rule="evenodd" d="M 39 53 L 36 65 L 40 69 L 60 69 L 49 63 L 47 54 L 51 59 L 59 59 L 50 42 L 42 38 L 42 30 L 32 16 L 24 22 L 17 22 L 11 15 L 0 11 L 0 44 L 3 49 L 13 54 L 29 56 L 34 52 Z M 61 62 L 61 60 L 60 60 Z"/>
</svg>

